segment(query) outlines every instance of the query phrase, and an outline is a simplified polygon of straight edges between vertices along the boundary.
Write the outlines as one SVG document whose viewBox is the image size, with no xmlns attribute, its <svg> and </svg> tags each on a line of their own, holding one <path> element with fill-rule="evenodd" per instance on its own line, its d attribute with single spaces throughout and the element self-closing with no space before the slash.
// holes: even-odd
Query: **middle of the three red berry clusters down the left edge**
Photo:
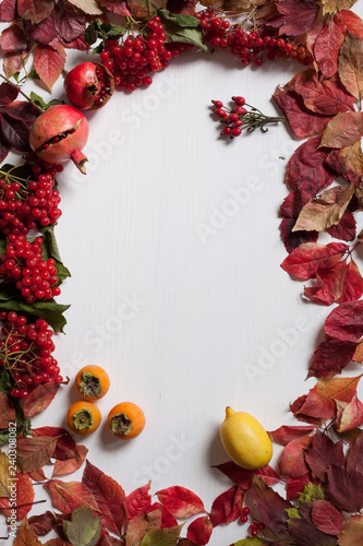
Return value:
<svg viewBox="0 0 363 546">
<path fill-rule="evenodd" d="M 10 235 L 5 252 L 1 256 L 0 276 L 4 283 L 16 283 L 28 304 L 45 301 L 60 294 L 56 262 L 43 260 L 43 238 L 34 242 L 24 235 Z"/>
</svg>

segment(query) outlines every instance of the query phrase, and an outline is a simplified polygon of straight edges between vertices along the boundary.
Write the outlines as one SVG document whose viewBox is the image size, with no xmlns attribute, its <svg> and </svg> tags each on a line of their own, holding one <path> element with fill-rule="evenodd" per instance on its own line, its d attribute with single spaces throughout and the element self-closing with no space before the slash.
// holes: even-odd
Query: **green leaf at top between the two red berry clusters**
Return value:
<svg viewBox="0 0 363 546">
<path fill-rule="evenodd" d="M 209 51 L 208 46 L 203 41 L 203 32 L 199 24 L 195 25 L 192 22 L 193 19 L 198 22 L 196 17 L 192 15 L 174 15 L 165 9 L 158 10 L 157 13 L 168 36 L 166 41 L 193 44 L 204 51 Z"/>
</svg>

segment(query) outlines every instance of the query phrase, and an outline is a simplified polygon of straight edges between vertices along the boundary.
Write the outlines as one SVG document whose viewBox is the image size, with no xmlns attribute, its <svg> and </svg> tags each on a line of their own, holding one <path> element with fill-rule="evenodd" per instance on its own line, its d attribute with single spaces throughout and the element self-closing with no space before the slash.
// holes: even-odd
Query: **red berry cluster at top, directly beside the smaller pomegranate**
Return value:
<svg viewBox="0 0 363 546">
<path fill-rule="evenodd" d="M 105 41 L 100 59 L 113 75 L 114 85 L 121 90 L 132 92 L 150 85 L 153 79 L 147 74 L 167 68 L 172 57 L 193 48 L 191 44 L 166 44 L 167 35 L 158 15 L 147 22 L 146 28 L 146 37 L 129 34 L 122 44 Z"/>
</svg>

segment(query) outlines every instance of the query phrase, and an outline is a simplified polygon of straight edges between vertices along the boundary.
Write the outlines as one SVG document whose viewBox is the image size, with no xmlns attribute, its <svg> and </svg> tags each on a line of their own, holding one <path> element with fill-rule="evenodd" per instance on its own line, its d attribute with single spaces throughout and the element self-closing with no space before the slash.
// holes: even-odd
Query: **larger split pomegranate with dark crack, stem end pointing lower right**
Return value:
<svg viewBox="0 0 363 546">
<path fill-rule="evenodd" d="M 85 175 L 87 157 L 82 149 L 87 142 L 88 130 L 85 116 L 73 106 L 51 106 L 33 123 L 29 144 L 40 159 L 47 163 L 72 159 Z"/>
</svg>

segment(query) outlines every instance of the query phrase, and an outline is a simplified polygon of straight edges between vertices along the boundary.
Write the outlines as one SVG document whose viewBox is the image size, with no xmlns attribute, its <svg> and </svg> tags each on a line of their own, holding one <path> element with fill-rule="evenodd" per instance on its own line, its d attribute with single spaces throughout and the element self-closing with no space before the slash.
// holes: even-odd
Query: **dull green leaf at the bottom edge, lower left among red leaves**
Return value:
<svg viewBox="0 0 363 546">
<path fill-rule="evenodd" d="M 63 531 L 73 546 L 95 546 L 101 529 L 100 518 L 96 518 L 89 508 L 73 510 L 72 520 L 63 522 Z"/>
</svg>

